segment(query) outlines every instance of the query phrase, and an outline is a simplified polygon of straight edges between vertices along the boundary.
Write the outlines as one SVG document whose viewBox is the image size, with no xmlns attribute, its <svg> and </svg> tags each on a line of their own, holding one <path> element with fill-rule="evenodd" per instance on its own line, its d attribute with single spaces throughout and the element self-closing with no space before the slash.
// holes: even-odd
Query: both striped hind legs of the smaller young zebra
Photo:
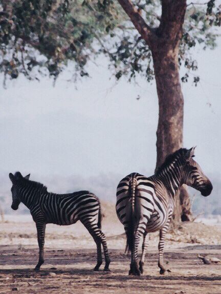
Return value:
<svg viewBox="0 0 221 294">
<path fill-rule="evenodd" d="M 109 258 L 107 244 L 106 244 L 106 237 L 104 233 L 98 228 L 97 224 L 94 224 L 92 220 L 87 219 L 82 221 L 85 228 L 89 231 L 92 235 L 96 245 L 97 245 L 97 264 L 94 268 L 94 271 L 99 271 L 99 267 L 102 264 L 102 253 L 101 253 L 101 244 L 103 246 L 104 257 L 105 257 L 105 266 L 104 271 L 109 271 L 109 263 L 111 259 Z"/>
</svg>

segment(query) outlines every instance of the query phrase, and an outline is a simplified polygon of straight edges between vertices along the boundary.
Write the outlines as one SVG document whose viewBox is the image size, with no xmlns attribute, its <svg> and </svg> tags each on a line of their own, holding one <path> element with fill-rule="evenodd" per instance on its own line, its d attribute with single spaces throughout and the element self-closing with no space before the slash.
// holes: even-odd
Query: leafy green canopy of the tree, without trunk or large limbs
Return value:
<svg viewBox="0 0 221 294">
<path fill-rule="evenodd" d="M 151 28 L 159 25 L 161 2 L 133 2 Z M 180 43 L 179 63 L 187 82 L 197 69 L 190 48 L 214 48 L 221 24 L 221 5 L 214 0 L 188 3 Z M 6 79 L 23 74 L 28 79 L 52 76 L 73 61 L 74 77 L 88 76 L 86 64 L 100 54 L 109 60 L 117 79 L 142 75 L 154 78 L 151 52 L 118 2 L 114 0 L 1 0 L 0 71 Z M 197 84 L 199 77 L 194 76 Z"/>
</svg>

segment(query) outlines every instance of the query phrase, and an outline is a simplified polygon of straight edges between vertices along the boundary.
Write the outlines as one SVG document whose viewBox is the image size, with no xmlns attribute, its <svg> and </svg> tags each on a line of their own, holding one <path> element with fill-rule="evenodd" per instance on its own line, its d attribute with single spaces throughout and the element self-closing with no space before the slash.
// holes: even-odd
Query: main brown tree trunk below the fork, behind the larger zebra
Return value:
<svg viewBox="0 0 221 294">
<path fill-rule="evenodd" d="M 157 167 L 166 156 L 183 147 L 184 98 L 181 90 L 179 45 L 175 48 L 158 44 L 152 49 L 154 74 L 159 99 L 159 121 L 157 129 Z M 181 188 L 176 200 L 175 221 L 191 218 L 190 200 L 186 187 Z"/>
</svg>

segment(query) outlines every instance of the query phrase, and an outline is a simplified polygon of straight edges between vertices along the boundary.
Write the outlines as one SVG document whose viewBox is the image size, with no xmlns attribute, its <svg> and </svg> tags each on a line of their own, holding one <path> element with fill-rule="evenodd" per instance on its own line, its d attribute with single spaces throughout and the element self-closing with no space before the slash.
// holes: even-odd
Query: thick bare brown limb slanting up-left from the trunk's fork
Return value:
<svg viewBox="0 0 221 294">
<path fill-rule="evenodd" d="M 135 28 L 140 33 L 141 37 L 146 41 L 147 45 L 150 44 L 150 36 L 153 31 L 140 15 L 138 10 L 134 7 L 130 0 L 118 0 L 123 10 L 129 16 Z"/>
</svg>

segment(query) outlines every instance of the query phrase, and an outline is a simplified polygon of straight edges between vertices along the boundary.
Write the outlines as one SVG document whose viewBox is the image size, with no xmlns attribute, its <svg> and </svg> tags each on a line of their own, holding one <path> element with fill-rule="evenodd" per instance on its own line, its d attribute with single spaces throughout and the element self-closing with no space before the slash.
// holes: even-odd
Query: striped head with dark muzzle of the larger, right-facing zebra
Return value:
<svg viewBox="0 0 221 294">
<path fill-rule="evenodd" d="M 204 175 L 200 165 L 193 160 L 195 147 L 190 148 L 184 155 L 184 184 L 193 187 L 201 192 L 203 196 L 208 196 L 212 189 L 212 183 Z"/>
</svg>

